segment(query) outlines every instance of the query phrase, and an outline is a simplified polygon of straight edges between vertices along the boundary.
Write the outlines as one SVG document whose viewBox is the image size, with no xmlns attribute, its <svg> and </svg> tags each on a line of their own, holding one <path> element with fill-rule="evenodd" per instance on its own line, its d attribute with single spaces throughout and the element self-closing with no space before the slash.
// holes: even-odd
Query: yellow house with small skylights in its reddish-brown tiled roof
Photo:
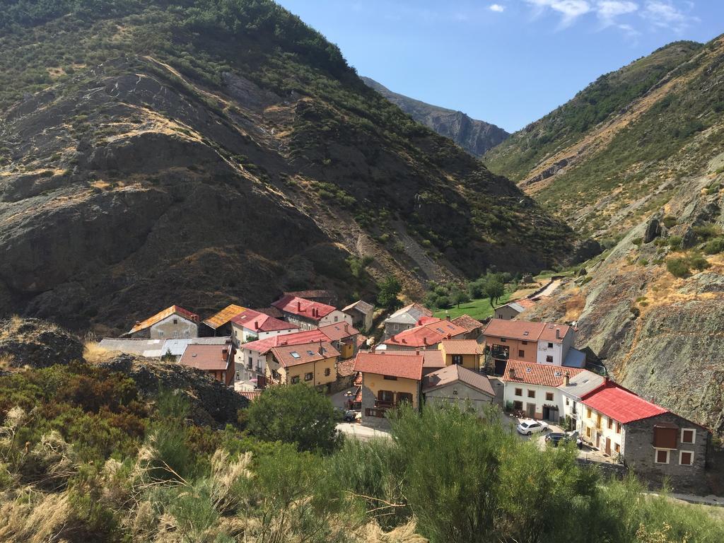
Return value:
<svg viewBox="0 0 724 543">
<path fill-rule="evenodd" d="M 266 383 L 304 383 L 329 392 L 337 380 L 339 355 L 328 341 L 272 347 L 266 355 Z"/>
</svg>

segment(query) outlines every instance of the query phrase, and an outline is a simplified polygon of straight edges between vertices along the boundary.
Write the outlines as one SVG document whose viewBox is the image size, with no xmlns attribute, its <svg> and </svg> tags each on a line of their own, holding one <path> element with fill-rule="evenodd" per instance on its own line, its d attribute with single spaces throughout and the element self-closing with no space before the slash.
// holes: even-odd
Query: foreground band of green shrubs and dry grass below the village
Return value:
<svg viewBox="0 0 724 543">
<path fill-rule="evenodd" d="M 168 364 L 138 359 L 130 372 L 112 361 L 56 361 L 0 375 L 4 542 L 724 537 L 707 509 L 644 495 L 633 478 L 607 480 L 580 466 L 572 445 L 541 450 L 504 429 L 497 413 L 480 420 L 457 408 L 403 408 L 392 439 L 348 441 L 329 400 L 296 384 L 265 391 L 225 426 L 202 424 L 184 390 L 221 386 L 201 371 L 177 372 L 172 387 L 154 389 L 150 377 Z"/>
</svg>

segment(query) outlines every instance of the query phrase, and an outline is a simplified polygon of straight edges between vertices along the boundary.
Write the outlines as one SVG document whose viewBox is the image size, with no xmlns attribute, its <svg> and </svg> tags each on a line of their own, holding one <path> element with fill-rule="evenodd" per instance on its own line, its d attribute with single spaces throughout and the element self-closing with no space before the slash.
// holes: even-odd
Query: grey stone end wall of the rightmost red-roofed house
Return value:
<svg viewBox="0 0 724 543">
<path fill-rule="evenodd" d="M 668 463 L 654 462 L 654 426 L 673 424 L 678 427 L 676 449 L 670 450 Z M 681 443 L 681 429 L 696 429 L 694 444 Z M 668 479 L 673 489 L 681 492 L 703 492 L 706 487 L 705 466 L 710 434 L 674 413 L 644 418 L 623 426 L 623 459 L 626 466 L 652 487 L 660 487 Z M 694 452 L 694 464 L 681 466 L 680 451 Z"/>
</svg>

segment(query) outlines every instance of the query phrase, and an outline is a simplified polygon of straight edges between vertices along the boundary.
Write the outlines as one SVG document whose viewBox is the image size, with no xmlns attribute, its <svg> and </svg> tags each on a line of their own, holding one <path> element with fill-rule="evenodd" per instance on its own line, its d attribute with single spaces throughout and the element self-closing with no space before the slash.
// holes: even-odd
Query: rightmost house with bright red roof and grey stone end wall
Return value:
<svg viewBox="0 0 724 543">
<path fill-rule="evenodd" d="M 611 381 L 584 395 L 581 437 L 660 485 L 704 486 L 711 432 Z"/>
</svg>

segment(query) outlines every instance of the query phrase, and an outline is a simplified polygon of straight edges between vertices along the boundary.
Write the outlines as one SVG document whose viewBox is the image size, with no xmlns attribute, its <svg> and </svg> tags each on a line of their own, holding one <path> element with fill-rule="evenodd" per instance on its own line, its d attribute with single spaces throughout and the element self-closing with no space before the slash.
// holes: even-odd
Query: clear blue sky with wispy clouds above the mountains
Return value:
<svg viewBox="0 0 724 543">
<path fill-rule="evenodd" d="M 724 0 L 277 0 L 360 75 L 513 131 L 599 75 L 724 33 Z"/>
</svg>

